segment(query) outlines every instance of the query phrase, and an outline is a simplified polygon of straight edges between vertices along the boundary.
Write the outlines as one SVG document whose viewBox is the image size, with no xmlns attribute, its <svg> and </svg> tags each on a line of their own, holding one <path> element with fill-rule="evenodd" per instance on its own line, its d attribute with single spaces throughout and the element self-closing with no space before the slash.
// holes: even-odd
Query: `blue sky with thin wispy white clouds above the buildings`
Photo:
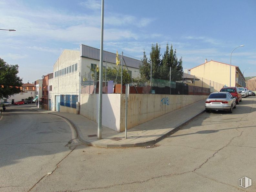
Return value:
<svg viewBox="0 0 256 192">
<path fill-rule="evenodd" d="M 183 68 L 205 59 L 231 64 L 256 76 L 255 0 L 105 0 L 105 51 L 149 57 L 158 43 L 172 44 Z M 0 0 L 0 57 L 19 65 L 23 82 L 53 72 L 64 49 L 100 48 L 101 0 Z M 250 69 L 247 69 L 250 68 Z"/>
</svg>

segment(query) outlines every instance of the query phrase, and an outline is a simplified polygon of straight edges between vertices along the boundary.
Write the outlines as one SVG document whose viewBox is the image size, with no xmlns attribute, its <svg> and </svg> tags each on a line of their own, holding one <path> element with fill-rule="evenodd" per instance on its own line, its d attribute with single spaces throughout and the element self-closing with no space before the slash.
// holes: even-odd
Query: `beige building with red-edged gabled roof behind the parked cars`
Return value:
<svg viewBox="0 0 256 192">
<path fill-rule="evenodd" d="M 207 61 L 189 69 L 191 75 L 209 79 L 214 82 L 230 86 L 230 64 L 218 61 Z M 231 86 L 245 87 L 245 78 L 238 66 L 231 65 Z"/>
</svg>

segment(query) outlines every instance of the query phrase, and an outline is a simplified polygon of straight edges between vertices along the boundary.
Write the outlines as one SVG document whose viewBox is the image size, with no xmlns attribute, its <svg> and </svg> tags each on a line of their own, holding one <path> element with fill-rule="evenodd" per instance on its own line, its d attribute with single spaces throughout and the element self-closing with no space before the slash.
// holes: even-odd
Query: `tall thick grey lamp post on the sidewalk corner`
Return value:
<svg viewBox="0 0 256 192">
<path fill-rule="evenodd" d="M 103 24 L 104 24 L 104 0 L 101 0 L 101 39 L 99 59 L 99 104 L 98 104 L 98 139 L 102 133 L 102 66 L 103 66 Z"/>
</svg>

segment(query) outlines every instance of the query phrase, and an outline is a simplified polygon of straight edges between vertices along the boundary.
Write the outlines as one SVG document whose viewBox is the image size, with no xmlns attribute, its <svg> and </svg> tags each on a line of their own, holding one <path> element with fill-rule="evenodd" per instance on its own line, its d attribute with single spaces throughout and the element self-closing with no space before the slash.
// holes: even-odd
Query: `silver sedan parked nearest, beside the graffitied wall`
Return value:
<svg viewBox="0 0 256 192">
<path fill-rule="evenodd" d="M 236 97 L 229 92 L 214 92 L 209 95 L 205 101 L 205 110 L 214 111 L 229 111 L 232 113 L 233 108 L 236 108 Z"/>
</svg>

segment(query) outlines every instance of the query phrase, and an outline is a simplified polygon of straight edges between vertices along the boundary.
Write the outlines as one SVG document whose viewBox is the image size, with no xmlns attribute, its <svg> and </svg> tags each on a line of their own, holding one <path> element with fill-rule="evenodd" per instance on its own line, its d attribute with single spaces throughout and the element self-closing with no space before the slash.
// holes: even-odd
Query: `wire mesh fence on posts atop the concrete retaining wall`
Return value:
<svg viewBox="0 0 256 192">
<path fill-rule="evenodd" d="M 122 62 L 122 61 L 121 61 Z M 130 93 L 170 94 L 170 95 L 209 95 L 220 91 L 224 86 L 210 79 L 184 73 L 177 68 L 165 70 L 148 67 L 129 71 L 123 61 L 122 65 L 103 67 L 103 93 L 125 93 L 125 85 L 130 85 Z M 98 93 L 99 71 L 97 66 L 81 76 L 81 93 Z M 108 86 L 108 82 L 111 83 Z M 121 86 L 121 84 L 123 86 Z"/>
</svg>

